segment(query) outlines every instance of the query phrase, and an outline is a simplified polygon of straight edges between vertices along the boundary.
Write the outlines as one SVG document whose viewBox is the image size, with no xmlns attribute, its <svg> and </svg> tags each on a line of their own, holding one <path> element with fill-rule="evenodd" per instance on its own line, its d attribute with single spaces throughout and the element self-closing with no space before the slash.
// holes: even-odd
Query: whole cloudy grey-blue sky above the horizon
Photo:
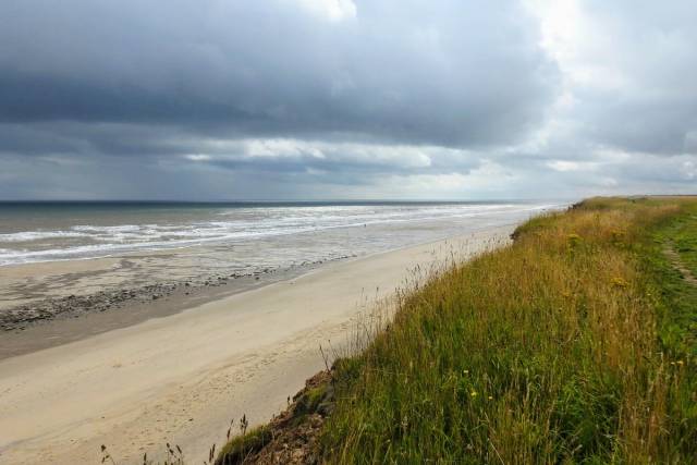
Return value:
<svg viewBox="0 0 697 465">
<path fill-rule="evenodd" d="M 2 0 L 0 199 L 697 193 L 694 0 Z"/>
</svg>

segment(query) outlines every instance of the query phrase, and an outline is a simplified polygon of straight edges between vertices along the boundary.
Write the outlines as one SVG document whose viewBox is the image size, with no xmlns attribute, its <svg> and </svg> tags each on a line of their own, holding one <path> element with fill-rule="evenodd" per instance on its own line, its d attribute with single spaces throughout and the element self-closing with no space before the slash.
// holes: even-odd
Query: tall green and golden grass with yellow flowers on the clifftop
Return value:
<svg viewBox="0 0 697 465">
<path fill-rule="evenodd" d="M 694 463 L 695 360 L 645 258 L 695 205 L 591 199 L 400 294 L 337 364 L 326 461 Z"/>
</svg>

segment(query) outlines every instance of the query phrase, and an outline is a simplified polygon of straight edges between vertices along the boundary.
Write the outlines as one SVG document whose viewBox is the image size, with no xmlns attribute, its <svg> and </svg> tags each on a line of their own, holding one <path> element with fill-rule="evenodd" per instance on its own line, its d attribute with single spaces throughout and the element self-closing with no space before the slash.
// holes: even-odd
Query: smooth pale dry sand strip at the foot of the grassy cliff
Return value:
<svg viewBox="0 0 697 465">
<path fill-rule="evenodd" d="M 0 463 L 119 464 L 180 444 L 189 463 L 231 418 L 268 420 L 323 367 L 368 296 L 415 266 L 505 242 L 512 227 L 328 265 L 296 279 L 0 362 Z M 161 457 L 161 455 L 160 455 Z"/>
</svg>

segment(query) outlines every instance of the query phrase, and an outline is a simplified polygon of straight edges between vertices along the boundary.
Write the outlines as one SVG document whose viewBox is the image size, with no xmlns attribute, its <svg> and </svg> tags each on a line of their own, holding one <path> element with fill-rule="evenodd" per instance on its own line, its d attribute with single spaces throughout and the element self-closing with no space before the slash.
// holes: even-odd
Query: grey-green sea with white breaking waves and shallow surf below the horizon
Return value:
<svg viewBox="0 0 697 465">
<path fill-rule="evenodd" d="M 239 267 L 400 248 L 523 221 L 559 201 L 0 203 L 0 267 L 206 246 Z M 272 257 L 273 259 L 269 259 Z M 213 259 L 213 261 L 216 261 Z"/>
</svg>

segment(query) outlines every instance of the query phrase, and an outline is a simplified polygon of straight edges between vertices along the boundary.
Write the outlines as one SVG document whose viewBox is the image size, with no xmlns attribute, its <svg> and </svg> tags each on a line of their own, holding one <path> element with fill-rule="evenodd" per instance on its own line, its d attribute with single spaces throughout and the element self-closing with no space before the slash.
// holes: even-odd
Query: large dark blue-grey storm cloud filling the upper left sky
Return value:
<svg viewBox="0 0 697 465">
<path fill-rule="evenodd" d="M 541 120 L 555 71 L 521 7 L 346 5 L 7 0 L 0 121 L 475 146 Z"/>
</svg>

